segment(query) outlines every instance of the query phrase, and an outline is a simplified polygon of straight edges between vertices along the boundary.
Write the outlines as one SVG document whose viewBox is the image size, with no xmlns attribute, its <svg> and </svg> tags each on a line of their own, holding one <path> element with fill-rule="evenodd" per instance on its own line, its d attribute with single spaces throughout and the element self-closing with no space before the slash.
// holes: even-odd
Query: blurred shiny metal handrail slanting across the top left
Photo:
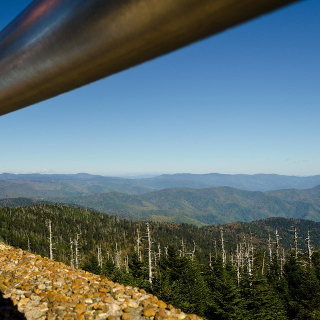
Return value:
<svg viewBox="0 0 320 320">
<path fill-rule="evenodd" d="M 34 0 L 0 32 L 0 115 L 294 0 Z"/>
</svg>

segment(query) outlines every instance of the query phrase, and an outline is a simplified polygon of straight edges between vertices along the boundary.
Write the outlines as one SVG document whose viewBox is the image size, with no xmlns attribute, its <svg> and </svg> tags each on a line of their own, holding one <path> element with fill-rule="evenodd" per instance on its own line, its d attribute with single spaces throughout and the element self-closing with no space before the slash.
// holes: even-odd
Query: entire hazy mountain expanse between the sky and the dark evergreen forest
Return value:
<svg viewBox="0 0 320 320">
<path fill-rule="evenodd" d="M 78 174 L 0 174 L 0 199 L 25 197 L 37 201 L 69 203 L 126 216 L 196 225 L 252 221 L 272 216 L 305 218 L 320 221 L 320 185 L 309 189 L 248 191 L 230 186 L 205 187 L 210 183 L 255 181 L 261 187 L 266 181 L 305 185 L 320 175 L 310 177 L 276 174 L 163 174 L 154 178 L 128 179 Z M 191 187 L 164 188 L 186 184 Z M 160 187 L 160 190 L 153 188 Z M 152 190 L 150 192 L 150 190 Z M 8 201 L 11 206 L 27 200 Z M 0 202 L 1 203 L 1 202 Z M 6 205 L 6 204 L 0 204 Z"/>
</svg>

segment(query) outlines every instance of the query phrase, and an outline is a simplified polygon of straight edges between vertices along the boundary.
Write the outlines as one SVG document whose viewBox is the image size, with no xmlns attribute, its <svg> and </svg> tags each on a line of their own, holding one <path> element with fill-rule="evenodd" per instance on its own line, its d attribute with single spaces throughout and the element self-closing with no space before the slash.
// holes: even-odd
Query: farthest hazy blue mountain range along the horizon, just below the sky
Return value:
<svg viewBox="0 0 320 320">
<path fill-rule="evenodd" d="M 278 174 L 161 174 L 149 178 L 123 178 L 88 173 L 0 174 L 0 198 L 78 196 L 109 191 L 142 194 L 165 188 L 210 188 L 229 186 L 247 191 L 307 189 L 320 184 L 320 175 Z"/>
</svg>

